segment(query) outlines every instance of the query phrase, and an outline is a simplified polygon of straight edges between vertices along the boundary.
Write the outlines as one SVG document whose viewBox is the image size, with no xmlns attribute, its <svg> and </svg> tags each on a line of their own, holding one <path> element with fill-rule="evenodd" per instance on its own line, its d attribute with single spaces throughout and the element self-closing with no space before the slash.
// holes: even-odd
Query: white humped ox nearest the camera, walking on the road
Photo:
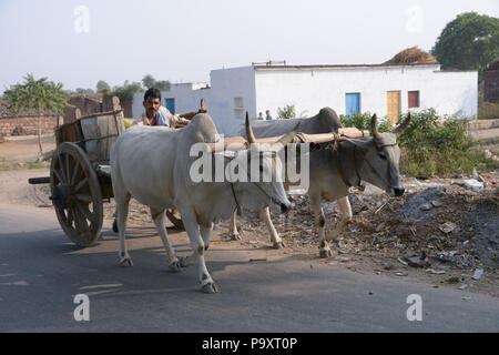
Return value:
<svg viewBox="0 0 499 355">
<path fill-rule="evenodd" d="M 247 123 L 248 124 L 248 123 Z M 295 132 L 273 145 L 259 146 L 258 151 L 282 149 L 291 142 Z M 161 126 L 133 126 L 121 134 L 111 151 L 111 176 L 116 203 L 116 222 L 120 234 L 120 263 L 133 266 L 125 244 L 125 227 L 131 196 L 150 206 L 151 215 L 163 241 L 171 271 L 198 265 L 198 281 L 203 292 L 216 293 L 204 260 L 210 244 L 213 224 L 230 219 L 237 205 L 251 210 L 269 206 L 286 212 L 291 203 L 282 182 L 198 182 L 194 183 L 190 171 L 198 158 L 190 156 L 194 143 L 214 143 L 218 134 L 207 114 L 197 114 L 184 129 Z M 225 164 L 235 160 L 240 169 L 251 166 L 255 151 L 243 150 L 227 158 Z M 258 153 L 258 152 L 257 152 Z M 256 159 L 259 159 L 259 154 Z M 244 163 L 246 162 L 247 165 Z M 275 158 L 264 159 L 261 171 L 275 176 Z M 241 171 L 238 174 L 241 175 Z M 246 171 L 247 173 L 247 171 Z M 191 240 L 192 255 L 177 257 L 170 244 L 165 229 L 165 210 L 177 209 Z"/>
</svg>

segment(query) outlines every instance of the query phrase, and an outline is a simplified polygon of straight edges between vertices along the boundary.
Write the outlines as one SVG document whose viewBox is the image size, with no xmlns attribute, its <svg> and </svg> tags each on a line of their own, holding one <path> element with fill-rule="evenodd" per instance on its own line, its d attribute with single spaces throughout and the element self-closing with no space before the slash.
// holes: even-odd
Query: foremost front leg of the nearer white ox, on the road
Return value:
<svg viewBox="0 0 499 355">
<path fill-rule="evenodd" d="M 201 283 L 201 291 L 203 291 L 204 293 L 217 293 L 218 287 L 213 282 L 213 278 L 206 268 L 206 263 L 204 260 L 205 243 L 203 239 L 207 241 L 210 240 L 208 235 L 211 234 L 211 227 L 201 227 L 201 232 L 203 233 L 202 236 L 200 233 L 200 225 L 197 224 L 194 212 L 182 211 L 181 214 L 193 250 L 193 254 L 187 257 L 186 263 L 194 264 L 197 261 L 197 275 Z M 207 230 L 210 230 L 210 232 L 207 232 Z"/>
</svg>

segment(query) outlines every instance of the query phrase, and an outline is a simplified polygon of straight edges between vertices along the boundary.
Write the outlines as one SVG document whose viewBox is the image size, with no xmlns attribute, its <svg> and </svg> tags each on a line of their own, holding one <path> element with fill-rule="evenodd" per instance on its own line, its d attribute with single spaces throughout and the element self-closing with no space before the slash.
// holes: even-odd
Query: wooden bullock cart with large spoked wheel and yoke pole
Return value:
<svg viewBox="0 0 499 355">
<path fill-rule="evenodd" d="M 91 245 L 100 235 L 103 223 L 103 202 L 113 197 L 110 150 L 124 130 L 122 110 L 94 113 L 63 124 L 55 130 L 57 148 L 50 165 L 50 176 L 29 179 L 30 184 L 50 184 L 55 214 L 61 229 L 78 245 Z M 367 136 L 367 131 L 339 129 L 337 133 L 298 133 L 296 143 L 325 143 L 335 140 Z M 273 143 L 277 138 L 256 139 L 257 143 Z M 212 150 L 243 150 L 248 142 L 242 136 L 228 138 L 224 146 Z M 170 221 L 183 229 L 174 211 L 166 211 Z M 115 221 L 114 232 L 118 232 Z"/>
</svg>

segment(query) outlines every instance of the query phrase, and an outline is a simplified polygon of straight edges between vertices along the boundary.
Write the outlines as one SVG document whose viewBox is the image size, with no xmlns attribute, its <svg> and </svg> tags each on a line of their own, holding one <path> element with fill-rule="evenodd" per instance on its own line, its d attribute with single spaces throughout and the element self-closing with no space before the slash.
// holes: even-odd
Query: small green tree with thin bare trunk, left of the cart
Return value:
<svg viewBox="0 0 499 355">
<path fill-rule="evenodd" d="M 55 112 L 63 114 L 68 105 L 70 94 L 62 89 L 62 84 L 47 81 L 47 78 L 35 80 L 33 74 L 27 74 L 22 84 L 11 85 L 10 90 L 3 93 L 3 99 L 9 103 L 13 112 L 19 109 L 35 110 L 38 114 L 38 145 L 39 155 L 43 154 L 41 145 L 41 112 Z"/>
</svg>

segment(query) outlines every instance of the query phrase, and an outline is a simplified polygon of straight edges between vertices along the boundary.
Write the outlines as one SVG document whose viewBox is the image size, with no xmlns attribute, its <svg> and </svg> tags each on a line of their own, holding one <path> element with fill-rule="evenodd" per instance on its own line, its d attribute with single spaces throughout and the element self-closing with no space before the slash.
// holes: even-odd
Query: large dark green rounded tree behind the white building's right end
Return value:
<svg viewBox="0 0 499 355">
<path fill-rule="evenodd" d="M 499 55 L 499 19 L 465 12 L 447 23 L 431 53 L 442 68 L 483 69 Z"/>
</svg>

